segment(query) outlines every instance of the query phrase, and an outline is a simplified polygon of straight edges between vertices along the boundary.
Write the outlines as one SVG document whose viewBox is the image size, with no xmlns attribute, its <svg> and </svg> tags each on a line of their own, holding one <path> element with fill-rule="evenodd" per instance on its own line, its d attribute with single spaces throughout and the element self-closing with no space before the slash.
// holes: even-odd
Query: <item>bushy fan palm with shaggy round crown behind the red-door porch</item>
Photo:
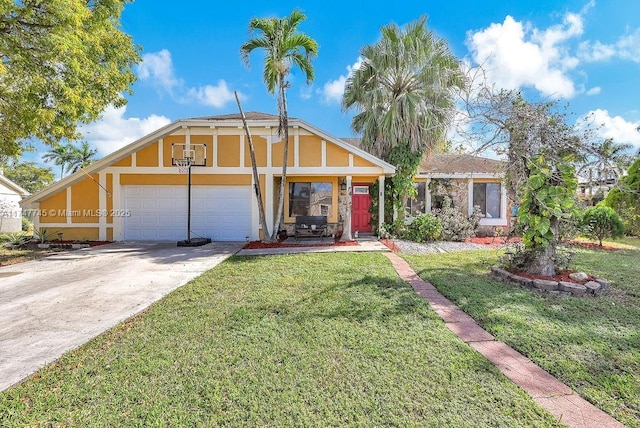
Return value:
<svg viewBox="0 0 640 428">
<path fill-rule="evenodd" d="M 466 81 L 446 40 L 426 28 L 426 16 L 382 28 L 362 48 L 362 65 L 347 79 L 342 106 L 357 111 L 351 127 L 365 149 L 396 166 L 392 178 L 402 212 L 423 156 L 443 140 L 454 115 L 454 91 Z"/>
</svg>

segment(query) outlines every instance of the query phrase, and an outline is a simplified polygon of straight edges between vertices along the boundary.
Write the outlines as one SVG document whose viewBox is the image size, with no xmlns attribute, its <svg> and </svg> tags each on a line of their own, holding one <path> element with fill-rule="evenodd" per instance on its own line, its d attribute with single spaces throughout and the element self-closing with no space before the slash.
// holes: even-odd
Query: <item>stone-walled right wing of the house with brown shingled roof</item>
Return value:
<svg viewBox="0 0 640 428">
<path fill-rule="evenodd" d="M 505 162 L 470 154 L 437 154 L 425 158 L 415 176 L 417 194 L 407 202 L 416 215 L 442 207 L 446 196 L 465 214 L 480 208 L 480 231 L 492 234 L 510 225 L 511 211 L 504 184 Z"/>
</svg>

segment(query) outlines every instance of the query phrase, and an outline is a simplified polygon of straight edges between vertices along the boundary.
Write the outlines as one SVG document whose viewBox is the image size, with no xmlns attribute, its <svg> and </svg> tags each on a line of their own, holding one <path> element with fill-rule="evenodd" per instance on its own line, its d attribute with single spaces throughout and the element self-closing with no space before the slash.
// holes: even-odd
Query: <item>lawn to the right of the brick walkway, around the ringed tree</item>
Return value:
<svg viewBox="0 0 640 428">
<path fill-rule="evenodd" d="M 577 250 L 575 266 L 610 281 L 606 296 L 541 295 L 489 279 L 496 251 L 405 255 L 425 280 L 582 397 L 640 427 L 640 241 Z"/>
</svg>

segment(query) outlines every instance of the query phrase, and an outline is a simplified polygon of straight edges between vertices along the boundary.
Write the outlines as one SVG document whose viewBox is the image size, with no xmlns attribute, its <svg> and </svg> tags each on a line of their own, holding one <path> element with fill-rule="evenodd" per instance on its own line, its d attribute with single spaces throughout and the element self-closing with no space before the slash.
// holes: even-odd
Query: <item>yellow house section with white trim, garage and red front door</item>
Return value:
<svg viewBox="0 0 640 428">
<path fill-rule="evenodd" d="M 284 146 L 278 117 L 256 112 L 246 117 L 271 226 Z M 297 215 L 326 215 L 330 233 L 370 231 L 369 185 L 384 184 L 395 168 L 302 120 L 290 118 L 289 126 L 284 228 L 292 233 Z M 65 240 L 182 240 L 187 175 L 175 163 L 185 154 L 205 163 L 192 167 L 192 236 L 260 239 L 251 159 L 238 114 L 173 122 L 28 197 L 22 206 L 35 210 L 36 228 L 62 233 Z"/>
</svg>

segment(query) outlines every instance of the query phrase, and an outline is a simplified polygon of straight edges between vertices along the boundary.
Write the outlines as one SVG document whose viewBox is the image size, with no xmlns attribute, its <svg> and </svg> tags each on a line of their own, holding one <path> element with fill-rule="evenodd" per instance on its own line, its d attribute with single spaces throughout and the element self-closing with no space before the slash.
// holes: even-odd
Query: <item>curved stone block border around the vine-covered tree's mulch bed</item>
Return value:
<svg viewBox="0 0 640 428">
<path fill-rule="evenodd" d="M 574 297 L 595 296 L 604 293 L 610 287 L 609 282 L 601 278 L 596 278 L 582 285 L 575 282 L 526 278 L 511 273 L 499 266 L 491 267 L 491 276 L 501 282 L 518 285 L 530 290 Z"/>
</svg>

